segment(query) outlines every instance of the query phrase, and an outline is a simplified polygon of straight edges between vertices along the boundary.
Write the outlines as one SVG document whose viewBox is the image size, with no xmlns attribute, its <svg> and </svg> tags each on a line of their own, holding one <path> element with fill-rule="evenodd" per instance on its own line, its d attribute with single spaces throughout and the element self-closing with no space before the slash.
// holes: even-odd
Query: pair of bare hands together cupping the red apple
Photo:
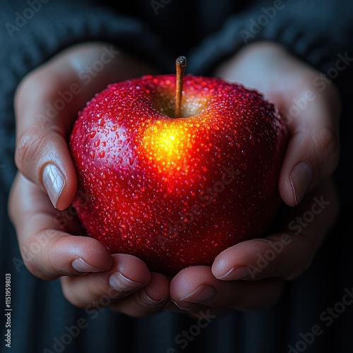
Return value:
<svg viewBox="0 0 353 353">
<path fill-rule="evenodd" d="M 57 222 L 58 213 L 68 208 L 76 193 L 67 138 L 78 110 L 108 83 L 156 73 L 120 53 L 92 76 L 89 84 L 83 83 L 79 73 L 100 60 L 104 47 L 110 44 L 68 48 L 29 73 L 16 91 L 19 172 L 9 213 L 25 265 L 44 280 L 60 277 L 64 295 L 76 306 L 86 308 L 106 297 L 111 309 L 130 316 L 162 309 L 197 316 L 205 307 L 217 314 L 227 308 L 253 310 L 275 303 L 284 282 L 309 267 L 337 213 L 335 189 L 329 179 L 339 157 L 340 99 L 335 87 L 328 84 L 319 90 L 313 85 L 318 71 L 270 42 L 251 44 L 218 68 L 216 76 L 256 88 L 285 114 L 290 140 L 279 188 L 286 206 L 273 234 L 232 246 L 217 256 L 211 267 L 193 266 L 167 278 L 150 273 L 136 257 L 111 255 L 100 242 L 84 236 L 75 217 L 64 228 Z M 59 92 L 73 83 L 80 86 L 80 93 L 73 95 L 59 114 L 43 120 L 47 103 L 54 103 Z M 296 116 L 287 114 L 309 90 L 315 98 L 307 100 L 305 109 Z M 314 196 L 322 196 L 330 204 L 295 234 L 288 225 L 311 210 Z M 251 275 L 249 268 L 256 268 L 259 255 L 278 244 L 283 234 L 290 237 L 288 244 L 268 266 Z"/>
</svg>

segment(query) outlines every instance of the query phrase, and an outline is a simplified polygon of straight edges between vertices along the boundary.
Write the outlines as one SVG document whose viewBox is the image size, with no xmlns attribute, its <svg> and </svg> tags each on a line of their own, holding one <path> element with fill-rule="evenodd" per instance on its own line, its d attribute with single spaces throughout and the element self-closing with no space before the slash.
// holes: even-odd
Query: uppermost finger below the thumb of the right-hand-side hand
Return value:
<svg viewBox="0 0 353 353">
<path fill-rule="evenodd" d="M 253 239 L 220 253 L 212 266 L 220 280 L 261 280 L 281 277 L 293 280 L 311 265 L 318 246 L 337 215 L 333 184 L 327 181 L 311 192 L 297 208 L 286 232 Z"/>
</svg>

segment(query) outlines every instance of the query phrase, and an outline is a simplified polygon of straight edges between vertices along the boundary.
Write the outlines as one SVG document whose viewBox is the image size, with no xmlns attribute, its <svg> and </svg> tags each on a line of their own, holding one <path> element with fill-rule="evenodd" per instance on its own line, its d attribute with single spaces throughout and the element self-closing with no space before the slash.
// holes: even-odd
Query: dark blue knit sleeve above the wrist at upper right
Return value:
<svg viewBox="0 0 353 353">
<path fill-rule="evenodd" d="M 193 50 L 189 69 L 210 74 L 217 64 L 256 41 L 283 44 L 292 54 L 327 72 L 352 56 L 353 1 L 258 0 L 229 16 L 222 30 Z M 351 59 L 352 61 L 352 59 Z"/>
</svg>

